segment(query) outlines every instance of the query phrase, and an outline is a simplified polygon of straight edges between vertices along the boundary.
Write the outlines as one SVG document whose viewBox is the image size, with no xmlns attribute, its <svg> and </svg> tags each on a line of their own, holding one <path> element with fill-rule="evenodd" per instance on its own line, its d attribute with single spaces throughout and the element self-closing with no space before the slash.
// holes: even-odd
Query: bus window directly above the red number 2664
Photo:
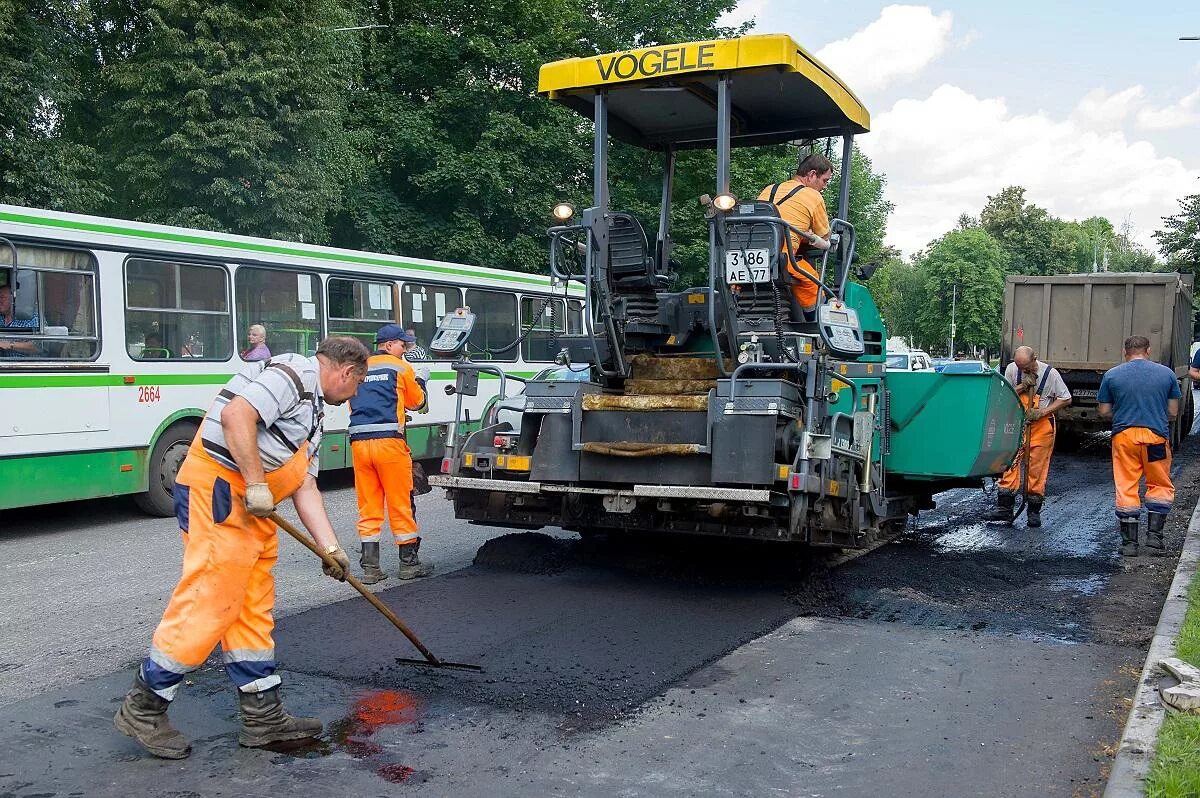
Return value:
<svg viewBox="0 0 1200 798">
<path fill-rule="evenodd" d="M 220 266 L 130 258 L 125 347 L 134 360 L 228 360 L 229 276 Z"/>
</svg>

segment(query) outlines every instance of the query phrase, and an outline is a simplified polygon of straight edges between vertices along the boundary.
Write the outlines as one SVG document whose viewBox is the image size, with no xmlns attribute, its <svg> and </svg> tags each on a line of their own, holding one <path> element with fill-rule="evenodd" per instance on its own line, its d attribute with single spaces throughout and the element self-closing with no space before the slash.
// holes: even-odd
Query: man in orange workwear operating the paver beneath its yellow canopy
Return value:
<svg viewBox="0 0 1200 798">
<path fill-rule="evenodd" d="M 792 250 L 796 252 L 794 262 L 787 257 L 787 244 L 784 245 L 784 258 L 788 262 L 787 272 L 791 277 L 786 284 L 791 289 L 792 318 L 796 322 L 800 320 L 800 314 L 805 322 L 816 319 L 820 292 L 817 284 L 805 275 L 816 277 L 820 272 L 804 256 L 810 248 L 829 248 L 829 215 L 821 192 L 832 176 L 833 163 L 814 152 L 800 161 L 791 180 L 767 186 L 758 194 L 760 200 L 774 203 L 784 221 L 800 230 L 799 235 L 790 233 Z"/>
</svg>

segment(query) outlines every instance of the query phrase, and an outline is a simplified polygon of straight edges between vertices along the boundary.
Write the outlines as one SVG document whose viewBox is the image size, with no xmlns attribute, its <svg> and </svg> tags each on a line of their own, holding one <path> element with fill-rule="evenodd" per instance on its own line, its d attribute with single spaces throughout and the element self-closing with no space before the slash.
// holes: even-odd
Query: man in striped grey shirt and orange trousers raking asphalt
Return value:
<svg viewBox="0 0 1200 798">
<path fill-rule="evenodd" d="M 367 349 L 354 338 L 326 338 L 313 358 L 286 354 L 252 362 L 217 394 L 175 478 L 175 516 L 184 534 L 184 574 L 154 632 L 150 655 L 113 719 L 155 756 L 180 760 L 191 745 L 167 719 L 184 677 L 221 643 L 238 688 L 241 733 L 250 748 L 320 734 L 316 718 L 293 718 L 275 673 L 275 523 L 268 516 L 290 497 L 313 540 L 337 563 L 337 545 L 317 488 L 324 406 L 346 402 L 366 374 Z"/>
</svg>

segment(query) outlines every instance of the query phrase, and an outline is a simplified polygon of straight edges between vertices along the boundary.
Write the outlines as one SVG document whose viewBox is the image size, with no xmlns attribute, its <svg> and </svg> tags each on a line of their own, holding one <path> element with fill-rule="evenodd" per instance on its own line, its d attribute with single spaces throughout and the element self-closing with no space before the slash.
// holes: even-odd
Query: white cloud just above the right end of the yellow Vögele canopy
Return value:
<svg viewBox="0 0 1200 798">
<path fill-rule="evenodd" d="M 887 6 L 866 28 L 826 44 L 816 55 L 856 92 L 876 91 L 937 60 L 950 44 L 953 24 L 948 11 Z"/>
</svg>

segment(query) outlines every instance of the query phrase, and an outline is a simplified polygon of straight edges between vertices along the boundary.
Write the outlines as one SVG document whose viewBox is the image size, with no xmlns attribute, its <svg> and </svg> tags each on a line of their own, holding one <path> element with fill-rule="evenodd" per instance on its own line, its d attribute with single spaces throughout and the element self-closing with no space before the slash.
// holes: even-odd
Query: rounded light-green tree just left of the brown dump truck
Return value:
<svg viewBox="0 0 1200 798">
<path fill-rule="evenodd" d="M 926 296 L 917 322 L 920 337 L 950 337 L 954 302 L 956 341 L 994 350 L 1003 322 L 1004 257 L 1000 244 L 978 228 L 952 230 L 936 241 L 919 264 Z"/>
</svg>

